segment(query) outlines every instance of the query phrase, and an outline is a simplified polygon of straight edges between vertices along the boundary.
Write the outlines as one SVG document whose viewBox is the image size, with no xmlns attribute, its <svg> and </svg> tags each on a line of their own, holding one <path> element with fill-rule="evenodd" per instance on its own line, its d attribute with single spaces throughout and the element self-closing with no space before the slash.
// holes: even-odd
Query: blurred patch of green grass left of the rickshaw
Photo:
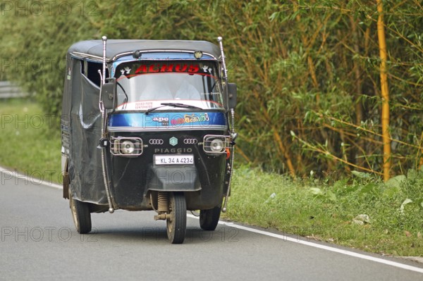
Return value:
<svg viewBox="0 0 423 281">
<path fill-rule="evenodd" d="M 57 118 L 20 99 L 0 101 L 0 166 L 59 181 L 61 140 Z M 56 126 L 57 130 L 51 130 Z"/>
</svg>

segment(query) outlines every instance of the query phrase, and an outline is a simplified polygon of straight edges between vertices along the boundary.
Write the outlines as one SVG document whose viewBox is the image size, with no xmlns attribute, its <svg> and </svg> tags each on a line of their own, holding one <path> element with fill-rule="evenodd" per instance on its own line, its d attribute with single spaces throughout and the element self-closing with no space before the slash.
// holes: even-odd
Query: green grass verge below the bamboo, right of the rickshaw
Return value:
<svg viewBox="0 0 423 281">
<path fill-rule="evenodd" d="M 385 184 L 364 173 L 294 181 L 241 167 L 232 194 L 231 220 L 379 254 L 423 255 L 422 172 Z"/>
</svg>

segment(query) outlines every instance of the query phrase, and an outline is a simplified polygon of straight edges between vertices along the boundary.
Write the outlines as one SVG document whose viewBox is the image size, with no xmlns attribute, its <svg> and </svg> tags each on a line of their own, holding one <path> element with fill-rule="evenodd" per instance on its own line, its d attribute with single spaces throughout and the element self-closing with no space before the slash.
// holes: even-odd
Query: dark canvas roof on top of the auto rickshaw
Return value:
<svg viewBox="0 0 423 281">
<path fill-rule="evenodd" d="M 106 59 L 107 61 L 113 61 L 119 56 L 130 54 L 136 50 L 202 51 L 215 58 L 219 58 L 220 56 L 219 47 L 207 41 L 109 39 L 107 40 Z M 87 40 L 77 42 L 69 48 L 68 53 L 74 56 L 102 58 L 103 41 Z"/>
</svg>

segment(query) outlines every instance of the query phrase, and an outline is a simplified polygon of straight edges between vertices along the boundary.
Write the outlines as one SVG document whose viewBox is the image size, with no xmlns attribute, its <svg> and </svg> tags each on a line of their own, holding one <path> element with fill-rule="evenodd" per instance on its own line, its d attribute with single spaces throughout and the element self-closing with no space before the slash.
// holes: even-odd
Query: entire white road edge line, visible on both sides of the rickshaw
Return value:
<svg viewBox="0 0 423 281">
<path fill-rule="evenodd" d="M 7 170 L 7 169 L 2 168 L 2 167 L 0 167 L 0 173 L 8 173 L 8 174 L 12 175 L 13 177 L 17 177 L 18 179 L 23 179 L 23 180 L 28 180 L 28 181 L 31 180 L 27 177 L 27 175 L 20 174 L 16 171 Z M 47 187 L 54 187 L 54 188 L 57 188 L 57 189 L 63 189 L 63 187 L 61 185 L 57 185 L 57 184 L 52 183 L 52 182 L 41 182 L 39 185 L 45 185 Z M 191 215 L 189 213 L 187 214 L 187 216 L 189 218 L 199 219 L 199 217 Z M 347 250 L 343 250 L 343 249 L 333 248 L 331 246 L 307 242 L 307 241 L 303 241 L 303 240 L 300 240 L 300 239 L 295 239 L 293 237 L 288 237 L 286 235 L 278 235 L 276 233 L 266 232 L 264 230 L 256 230 L 255 228 L 245 227 L 243 225 L 235 225 L 235 223 L 228 223 L 228 222 L 224 222 L 224 221 L 221 221 L 221 220 L 219 220 L 219 224 L 227 225 L 229 227 L 235 227 L 235 228 L 238 228 L 239 230 L 246 230 L 246 231 L 249 231 L 249 232 L 254 232 L 254 233 L 257 233 L 257 234 L 260 234 L 260 235 L 266 235 L 266 236 L 269 236 L 269 237 L 283 239 L 283 240 L 293 242 L 293 243 L 298 243 L 298 244 L 303 244 L 303 245 L 306 245 L 306 246 L 312 246 L 314 248 L 324 249 L 326 251 L 333 251 L 335 253 L 344 254 L 344 255 L 347 255 L 347 256 L 354 256 L 356 258 L 362 258 L 362 259 L 365 259 L 365 260 L 368 260 L 368 261 L 374 261 L 376 263 L 383 263 L 383 264 L 386 264 L 388 266 L 395 266 L 397 268 L 412 270 L 412 271 L 415 271 L 417 273 L 423 273 L 423 268 L 417 268 L 415 266 L 408 266 L 408 265 L 403 264 L 403 263 L 397 263 L 396 261 L 388 261 L 388 260 L 385 260 L 383 258 L 375 258 L 374 256 L 367 256 L 367 255 L 364 255 L 364 254 L 358 254 L 358 253 L 355 253 L 353 251 L 347 251 Z"/>
</svg>

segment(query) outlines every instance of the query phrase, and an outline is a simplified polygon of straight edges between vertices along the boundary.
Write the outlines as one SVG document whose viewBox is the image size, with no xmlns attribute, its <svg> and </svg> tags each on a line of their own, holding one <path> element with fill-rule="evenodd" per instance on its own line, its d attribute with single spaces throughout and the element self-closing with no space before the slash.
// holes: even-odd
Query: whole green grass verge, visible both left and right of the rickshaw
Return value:
<svg viewBox="0 0 423 281">
<path fill-rule="evenodd" d="M 29 101 L 1 101 L 0 166 L 60 181 L 55 118 Z M 54 171 L 54 172 L 51 172 Z M 423 254 L 423 172 L 386 184 L 365 173 L 348 179 L 290 177 L 238 167 L 225 218 L 395 256 Z M 361 216 L 360 216 L 361 215 Z M 364 216 L 365 215 L 365 216 Z"/>
</svg>

